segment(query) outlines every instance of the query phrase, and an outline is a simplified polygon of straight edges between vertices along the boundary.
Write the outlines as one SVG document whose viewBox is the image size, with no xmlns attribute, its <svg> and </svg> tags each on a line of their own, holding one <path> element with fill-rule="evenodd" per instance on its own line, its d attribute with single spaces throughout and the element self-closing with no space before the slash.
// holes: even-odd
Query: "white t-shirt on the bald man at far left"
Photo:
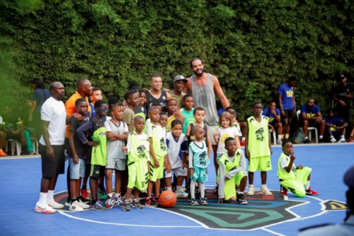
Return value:
<svg viewBox="0 0 354 236">
<path fill-rule="evenodd" d="M 50 122 L 48 126 L 49 140 L 51 145 L 64 145 L 65 128 L 67 126 L 67 111 L 64 102 L 48 98 L 40 109 L 40 119 Z M 45 146 L 43 136 L 40 144 Z"/>
</svg>

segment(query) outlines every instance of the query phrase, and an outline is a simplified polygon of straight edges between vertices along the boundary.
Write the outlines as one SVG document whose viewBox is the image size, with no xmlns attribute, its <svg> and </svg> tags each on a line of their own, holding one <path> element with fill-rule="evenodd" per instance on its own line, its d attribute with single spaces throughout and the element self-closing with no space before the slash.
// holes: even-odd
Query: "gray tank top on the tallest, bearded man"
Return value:
<svg viewBox="0 0 354 236">
<path fill-rule="evenodd" d="M 217 115 L 217 105 L 215 100 L 214 86 L 212 85 L 212 75 L 207 76 L 207 83 L 200 86 L 195 81 L 195 75 L 192 77 L 192 94 L 194 98 L 194 107 L 204 107 L 207 126 L 216 126 L 219 121 Z"/>
</svg>

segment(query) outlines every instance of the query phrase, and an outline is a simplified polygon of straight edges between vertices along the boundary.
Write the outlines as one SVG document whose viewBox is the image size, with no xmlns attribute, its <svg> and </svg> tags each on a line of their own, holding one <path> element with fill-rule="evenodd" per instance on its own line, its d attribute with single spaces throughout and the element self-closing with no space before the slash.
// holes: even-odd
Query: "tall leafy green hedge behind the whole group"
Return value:
<svg viewBox="0 0 354 236">
<path fill-rule="evenodd" d="M 33 78 L 62 81 L 68 97 L 86 77 L 122 98 L 153 73 L 171 88 L 201 57 L 241 119 L 292 75 L 297 104 L 324 109 L 336 76 L 353 71 L 353 12 L 344 0 L 0 0 L 1 97 L 30 98 Z"/>
</svg>

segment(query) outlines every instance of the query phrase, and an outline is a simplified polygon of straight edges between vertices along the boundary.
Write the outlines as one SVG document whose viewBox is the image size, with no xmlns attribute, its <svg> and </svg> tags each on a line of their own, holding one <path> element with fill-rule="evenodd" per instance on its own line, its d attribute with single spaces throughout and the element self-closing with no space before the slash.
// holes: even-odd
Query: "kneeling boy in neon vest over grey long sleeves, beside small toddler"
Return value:
<svg viewBox="0 0 354 236">
<path fill-rule="evenodd" d="M 225 141 L 227 150 L 219 159 L 219 185 L 218 203 L 236 200 L 239 204 L 248 204 L 244 199 L 244 189 L 247 184 L 246 159 L 244 152 L 237 149 L 235 138 L 229 137 Z M 235 186 L 239 185 L 239 192 L 236 193 Z"/>
</svg>

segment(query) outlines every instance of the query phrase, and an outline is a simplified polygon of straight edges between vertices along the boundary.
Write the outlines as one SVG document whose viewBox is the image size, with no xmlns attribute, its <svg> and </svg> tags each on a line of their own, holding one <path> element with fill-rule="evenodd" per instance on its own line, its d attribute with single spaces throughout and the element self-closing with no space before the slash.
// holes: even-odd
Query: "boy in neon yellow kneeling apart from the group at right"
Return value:
<svg viewBox="0 0 354 236">
<path fill-rule="evenodd" d="M 310 187 L 310 173 L 312 171 L 309 167 L 302 165 L 295 166 L 294 150 L 292 149 L 292 142 L 284 141 L 282 143 L 283 153 L 278 160 L 278 177 L 280 182 L 280 194 L 287 195 L 287 191 L 298 197 L 305 195 L 319 195 Z M 290 156 L 290 157 L 289 157 Z"/>
</svg>

